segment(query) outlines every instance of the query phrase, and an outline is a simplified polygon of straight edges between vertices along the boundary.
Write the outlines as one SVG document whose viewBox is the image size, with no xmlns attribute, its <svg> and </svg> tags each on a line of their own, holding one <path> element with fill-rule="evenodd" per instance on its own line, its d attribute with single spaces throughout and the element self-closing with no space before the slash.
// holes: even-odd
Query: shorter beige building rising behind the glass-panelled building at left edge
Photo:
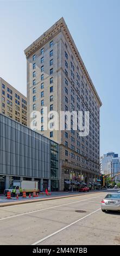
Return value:
<svg viewBox="0 0 120 256">
<path fill-rule="evenodd" d="M 27 97 L 1 77 L 0 112 L 27 126 Z"/>
</svg>

